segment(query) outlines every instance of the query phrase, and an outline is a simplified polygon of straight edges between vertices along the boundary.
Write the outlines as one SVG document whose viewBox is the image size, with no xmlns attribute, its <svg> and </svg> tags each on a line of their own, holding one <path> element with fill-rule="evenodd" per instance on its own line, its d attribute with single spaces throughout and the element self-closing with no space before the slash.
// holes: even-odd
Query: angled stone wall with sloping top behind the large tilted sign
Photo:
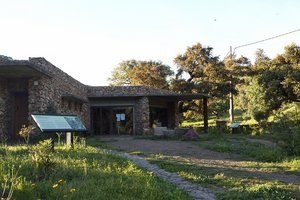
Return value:
<svg viewBox="0 0 300 200">
<path fill-rule="evenodd" d="M 29 58 L 29 62 L 52 76 L 51 78 L 47 76 L 33 77 L 29 80 L 29 112 L 45 113 L 47 110 L 53 109 L 60 114 L 75 114 L 80 116 L 85 126 L 89 129 L 90 115 L 87 86 L 55 67 L 44 58 Z M 34 84 L 35 81 L 38 81 L 37 85 Z M 62 98 L 64 95 L 78 97 L 78 100 L 65 100 Z"/>
</svg>

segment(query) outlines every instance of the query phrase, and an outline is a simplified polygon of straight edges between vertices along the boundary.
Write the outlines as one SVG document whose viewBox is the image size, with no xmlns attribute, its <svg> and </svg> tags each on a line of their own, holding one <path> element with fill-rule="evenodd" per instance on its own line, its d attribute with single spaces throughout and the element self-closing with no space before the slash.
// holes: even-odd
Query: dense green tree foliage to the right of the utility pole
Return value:
<svg viewBox="0 0 300 200">
<path fill-rule="evenodd" d="M 277 111 L 283 104 L 300 102 L 300 48 L 295 44 L 284 48 L 282 54 L 270 59 L 262 49 L 255 53 L 252 74 L 240 88 L 246 90 L 244 98 L 248 113 Z M 243 94 L 243 93 L 241 93 Z M 240 107 L 245 107 L 240 104 Z"/>
</svg>

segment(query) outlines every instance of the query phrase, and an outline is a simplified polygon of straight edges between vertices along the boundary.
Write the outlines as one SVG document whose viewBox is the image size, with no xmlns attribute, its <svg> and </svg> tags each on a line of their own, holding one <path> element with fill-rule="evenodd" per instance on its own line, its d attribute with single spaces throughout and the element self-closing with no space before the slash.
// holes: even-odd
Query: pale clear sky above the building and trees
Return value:
<svg viewBox="0 0 300 200">
<path fill-rule="evenodd" d="M 44 57 L 80 82 L 108 85 L 124 60 L 176 70 L 196 43 L 223 59 L 233 48 L 300 29 L 299 0 L 0 0 L 0 55 Z M 253 60 L 300 45 L 300 31 L 237 48 Z"/>
</svg>

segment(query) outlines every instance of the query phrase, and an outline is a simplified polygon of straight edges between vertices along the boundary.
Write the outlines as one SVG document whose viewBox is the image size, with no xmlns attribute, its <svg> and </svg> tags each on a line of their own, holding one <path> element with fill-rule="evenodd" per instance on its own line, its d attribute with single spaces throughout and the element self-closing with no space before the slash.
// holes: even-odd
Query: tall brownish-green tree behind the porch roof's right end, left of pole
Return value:
<svg viewBox="0 0 300 200">
<path fill-rule="evenodd" d="M 188 47 L 184 54 L 174 59 L 177 74 L 173 80 L 173 89 L 177 92 L 206 93 L 212 96 L 209 101 L 210 111 L 215 115 L 224 112 L 224 98 L 232 89 L 229 83 L 229 71 L 219 57 L 213 55 L 212 47 L 203 47 L 200 43 Z M 199 101 L 181 103 L 185 115 L 197 118 L 201 112 Z"/>
</svg>

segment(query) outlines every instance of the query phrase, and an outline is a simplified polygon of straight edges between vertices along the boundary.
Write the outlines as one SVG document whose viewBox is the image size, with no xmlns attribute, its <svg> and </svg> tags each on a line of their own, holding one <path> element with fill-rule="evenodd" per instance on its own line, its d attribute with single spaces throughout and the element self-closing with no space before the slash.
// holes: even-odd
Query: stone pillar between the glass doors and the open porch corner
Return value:
<svg viewBox="0 0 300 200">
<path fill-rule="evenodd" d="M 142 135 L 150 127 L 150 109 L 147 97 L 138 99 L 135 104 L 135 134 Z"/>
</svg>

